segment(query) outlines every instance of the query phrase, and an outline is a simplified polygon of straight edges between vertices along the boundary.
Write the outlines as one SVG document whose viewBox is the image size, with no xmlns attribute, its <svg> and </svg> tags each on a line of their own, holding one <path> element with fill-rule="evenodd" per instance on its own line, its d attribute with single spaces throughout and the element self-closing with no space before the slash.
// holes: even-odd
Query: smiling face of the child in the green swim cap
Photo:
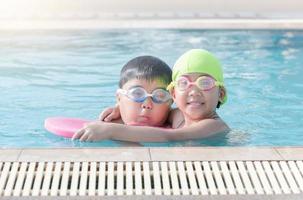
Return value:
<svg viewBox="0 0 303 200">
<path fill-rule="evenodd" d="M 199 77 L 207 75 L 192 73 L 182 76 L 191 82 L 195 82 Z M 217 86 L 203 91 L 193 84 L 183 91 L 175 86 L 172 90 L 172 96 L 185 117 L 196 121 L 208 118 L 215 112 L 219 100 L 222 100 L 224 97 L 224 92 L 223 89 Z"/>
</svg>

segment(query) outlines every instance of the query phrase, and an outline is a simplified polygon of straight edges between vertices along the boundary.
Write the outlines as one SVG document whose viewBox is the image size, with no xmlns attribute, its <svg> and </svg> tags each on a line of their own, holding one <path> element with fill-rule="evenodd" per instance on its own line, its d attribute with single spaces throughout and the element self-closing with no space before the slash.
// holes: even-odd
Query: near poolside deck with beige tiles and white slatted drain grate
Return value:
<svg viewBox="0 0 303 200">
<path fill-rule="evenodd" d="M 302 160 L 302 147 L 1 149 L 0 197 L 302 199 Z"/>
</svg>

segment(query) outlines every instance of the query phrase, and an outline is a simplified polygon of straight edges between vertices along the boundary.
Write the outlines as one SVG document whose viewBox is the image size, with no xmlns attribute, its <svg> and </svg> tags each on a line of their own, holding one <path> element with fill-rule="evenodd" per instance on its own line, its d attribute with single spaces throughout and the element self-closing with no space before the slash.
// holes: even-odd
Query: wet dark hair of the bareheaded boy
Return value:
<svg viewBox="0 0 303 200">
<path fill-rule="evenodd" d="M 153 56 L 139 56 L 128 61 L 120 72 L 119 87 L 132 79 L 153 81 L 160 79 L 165 84 L 172 81 L 172 70 L 159 58 Z"/>
</svg>

